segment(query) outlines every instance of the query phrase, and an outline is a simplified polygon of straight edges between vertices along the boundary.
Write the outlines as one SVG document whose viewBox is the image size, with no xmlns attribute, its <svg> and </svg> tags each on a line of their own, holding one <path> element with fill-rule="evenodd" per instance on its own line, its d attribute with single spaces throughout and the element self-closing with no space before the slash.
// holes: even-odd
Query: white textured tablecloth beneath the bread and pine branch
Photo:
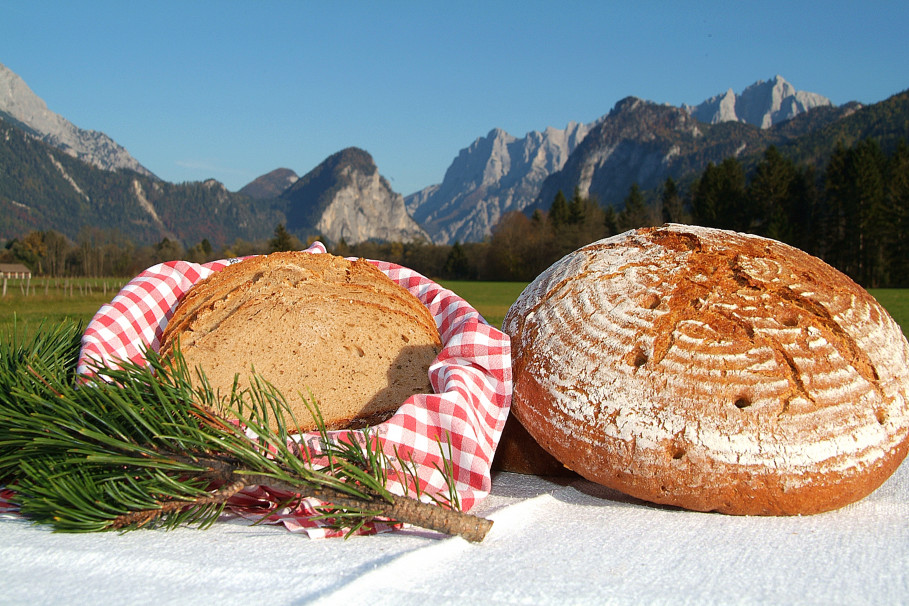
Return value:
<svg viewBox="0 0 909 606">
<path fill-rule="evenodd" d="M 909 465 L 816 516 L 659 507 L 499 473 L 480 544 L 420 529 L 311 540 L 208 530 L 58 534 L 0 516 L 0 604 L 906 604 Z"/>
</svg>

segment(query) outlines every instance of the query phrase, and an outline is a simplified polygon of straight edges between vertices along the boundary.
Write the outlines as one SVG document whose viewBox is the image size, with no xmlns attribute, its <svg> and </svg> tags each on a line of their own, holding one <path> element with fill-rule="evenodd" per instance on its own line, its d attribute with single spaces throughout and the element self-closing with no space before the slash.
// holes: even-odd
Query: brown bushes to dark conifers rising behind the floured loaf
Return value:
<svg viewBox="0 0 909 606">
<path fill-rule="evenodd" d="M 766 236 L 867 288 L 909 287 L 909 145 L 885 154 L 873 139 L 840 144 L 820 168 L 769 147 L 751 171 L 727 158 L 684 188 L 671 178 L 656 191 L 632 185 L 618 212 L 560 192 L 547 213 L 503 216 L 473 267 L 488 279 L 531 280 L 584 244 L 667 222 Z"/>
</svg>

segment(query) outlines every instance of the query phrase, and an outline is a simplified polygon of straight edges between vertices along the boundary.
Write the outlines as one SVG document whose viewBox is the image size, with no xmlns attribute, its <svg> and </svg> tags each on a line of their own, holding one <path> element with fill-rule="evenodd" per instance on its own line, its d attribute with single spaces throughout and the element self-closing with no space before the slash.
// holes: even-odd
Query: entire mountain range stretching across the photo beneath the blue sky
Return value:
<svg viewBox="0 0 909 606">
<path fill-rule="evenodd" d="M 709 162 L 747 160 L 769 145 L 810 140 L 813 151 L 805 153 L 823 155 L 844 129 L 884 128 L 881 120 L 850 126 L 873 107 L 836 107 L 776 76 L 694 106 L 627 97 L 588 124 L 520 138 L 492 129 L 460 150 L 441 183 L 406 197 L 358 148 L 333 154 L 302 177 L 279 168 L 230 192 L 214 180 L 161 181 L 103 133 L 50 112 L 0 65 L 0 241 L 31 229 L 75 240 L 93 226 L 137 243 L 166 237 L 188 246 L 207 238 L 220 246 L 268 237 L 279 223 L 304 240 L 479 241 L 503 214 L 546 209 L 559 190 L 620 206 L 632 184 L 646 190 L 667 177 L 684 182 Z M 902 116 L 884 121 L 892 136 L 909 137 Z"/>
</svg>

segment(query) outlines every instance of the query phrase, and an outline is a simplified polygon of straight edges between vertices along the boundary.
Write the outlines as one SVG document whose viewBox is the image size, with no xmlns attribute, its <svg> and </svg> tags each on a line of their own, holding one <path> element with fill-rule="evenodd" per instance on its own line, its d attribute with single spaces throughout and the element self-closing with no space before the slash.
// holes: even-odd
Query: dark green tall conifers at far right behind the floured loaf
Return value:
<svg viewBox="0 0 909 606">
<path fill-rule="evenodd" d="M 727 159 L 689 191 L 692 220 L 767 236 L 824 259 L 867 288 L 909 286 L 909 145 L 837 145 L 819 171 L 776 148 L 750 178 Z"/>
</svg>

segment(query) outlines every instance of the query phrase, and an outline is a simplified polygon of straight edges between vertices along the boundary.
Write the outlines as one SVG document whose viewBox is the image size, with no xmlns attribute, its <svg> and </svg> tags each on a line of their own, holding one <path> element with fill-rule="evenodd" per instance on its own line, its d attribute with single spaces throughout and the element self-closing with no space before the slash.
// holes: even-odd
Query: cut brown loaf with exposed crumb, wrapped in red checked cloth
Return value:
<svg viewBox="0 0 909 606">
<path fill-rule="evenodd" d="M 329 429 L 381 422 L 411 395 L 432 393 L 441 339 L 426 306 L 368 261 L 282 252 L 194 285 L 160 351 L 178 346 L 222 397 L 235 377 L 248 387 L 255 371 L 288 401 L 296 429 L 309 431 L 310 392 Z"/>
</svg>

